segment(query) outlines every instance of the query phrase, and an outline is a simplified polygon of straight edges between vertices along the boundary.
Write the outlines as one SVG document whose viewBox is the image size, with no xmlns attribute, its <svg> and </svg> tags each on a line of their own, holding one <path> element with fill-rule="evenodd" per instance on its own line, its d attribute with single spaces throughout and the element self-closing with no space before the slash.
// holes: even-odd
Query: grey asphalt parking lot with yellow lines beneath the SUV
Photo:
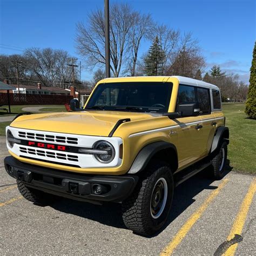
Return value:
<svg viewBox="0 0 256 256">
<path fill-rule="evenodd" d="M 37 206 L 23 199 L 4 170 L 0 137 L 0 254 L 255 255 L 255 176 L 206 171 L 176 188 L 165 228 L 153 237 L 127 230 L 119 204 L 59 199 Z"/>
</svg>

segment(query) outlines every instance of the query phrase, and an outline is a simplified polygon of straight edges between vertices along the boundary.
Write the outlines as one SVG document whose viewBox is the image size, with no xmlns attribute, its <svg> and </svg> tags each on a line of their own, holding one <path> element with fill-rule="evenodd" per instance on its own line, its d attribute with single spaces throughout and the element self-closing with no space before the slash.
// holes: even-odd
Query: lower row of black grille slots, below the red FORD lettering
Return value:
<svg viewBox="0 0 256 256">
<path fill-rule="evenodd" d="M 38 157 L 49 157 L 49 158 L 55 158 L 60 160 L 69 160 L 69 161 L 78 161 L 78 156 L 74 156 L 72 154 L 66 154 L 64 152 L 58 153 L 58 152 L 52 152 L 48 150 L 42 150 L 42 149 L 31 149 L 30 147 L 24 147 L 20 146 L 19 151 L 21 153 L 30 154 L 38 156 Z"/>
</svg>

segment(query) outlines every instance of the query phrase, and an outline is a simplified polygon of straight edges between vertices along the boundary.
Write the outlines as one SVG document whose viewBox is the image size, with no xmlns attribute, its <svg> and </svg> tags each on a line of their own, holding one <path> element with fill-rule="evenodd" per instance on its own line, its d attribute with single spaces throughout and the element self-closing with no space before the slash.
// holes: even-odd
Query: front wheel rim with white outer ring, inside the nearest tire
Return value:
<svg viewBox="0 0 256 256">
<path fill-rule="evenodd" d="M 150 200 L 150 211 L 153 219 L 157 219 L 163 213 L 168 194 L 168 186 L 165 178 L 160 178 L 154 185 Z"/>
</svg>

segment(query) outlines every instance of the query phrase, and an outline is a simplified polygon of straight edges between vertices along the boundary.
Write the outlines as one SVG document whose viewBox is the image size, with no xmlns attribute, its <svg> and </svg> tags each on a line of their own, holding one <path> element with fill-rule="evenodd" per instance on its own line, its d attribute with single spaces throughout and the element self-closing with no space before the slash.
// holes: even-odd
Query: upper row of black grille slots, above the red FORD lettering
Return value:
<svg viewBox="0 0 256 256">
<path fill-rule="evenodd" d="M 19 136 L 19 138 L 23 138 L 23 139 L 36 139 L 36 140 L 42 140 L 43 142 L 78 144 L 77 138 L 65 137 L 65 136 L 55 136 L 52 134 L 19 131 L 18 136 Z"/>
</svg>

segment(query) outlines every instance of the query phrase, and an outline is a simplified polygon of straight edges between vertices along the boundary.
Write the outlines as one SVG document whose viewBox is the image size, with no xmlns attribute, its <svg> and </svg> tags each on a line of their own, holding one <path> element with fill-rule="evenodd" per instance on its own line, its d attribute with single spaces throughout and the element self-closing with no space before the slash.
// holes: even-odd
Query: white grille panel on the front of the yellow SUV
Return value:
<svg viewBox="0 0 256 256">
<path fill-rule="evenodd" d="M 28 129 L 20 129 L 15 127 L 6 127 L 6 131 L 10 130 L 15 138 L 30 140 L 35 142 L 42 142 L 48 144 L 57 144 L 65 146 L 83 147 L 91 149 L 98 140 L 106 140 L 114 146 L 116 151 L 114 159 L 104 164 L 99 162 L 93 154 L 73 153 L 67 151 L 58 151 L 46 149 L 41 147 L 33 147 L 28 145 L 14 144 L 11 148 L 8 144 L 8 150 L 13 152 L 19 157 L 35 158 L 38 161 L 51 161 L 60 165 L 76 165 L 80 168 L 98 168 L 98 167 L 114 167 L 122 163 L 119 158 L 119 147 L 123 140 L 118 137 L 101 137 L 101 136 L 88 136 L 80 134 L 69 134 L 50 131 L 35 131 Z"/>
</svg>

